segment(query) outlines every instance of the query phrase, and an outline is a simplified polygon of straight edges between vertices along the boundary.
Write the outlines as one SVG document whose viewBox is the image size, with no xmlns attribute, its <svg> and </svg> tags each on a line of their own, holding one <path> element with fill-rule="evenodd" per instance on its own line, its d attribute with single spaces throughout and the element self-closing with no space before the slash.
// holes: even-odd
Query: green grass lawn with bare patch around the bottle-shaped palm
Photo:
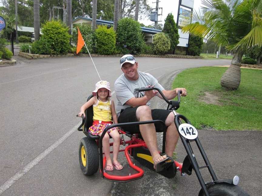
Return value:
<svg viewBox="0 0 262 196">
<path fill-rule="evenodd" d="M 226 69 L 200 67 L 178 74 L 173 88 L 185 87 L 188 93 L 178 113 L 197 129 L 262 130 L 262 70 L 241 69 L 239 88 L 227 91 L 220 86 Z"/>
</svg>

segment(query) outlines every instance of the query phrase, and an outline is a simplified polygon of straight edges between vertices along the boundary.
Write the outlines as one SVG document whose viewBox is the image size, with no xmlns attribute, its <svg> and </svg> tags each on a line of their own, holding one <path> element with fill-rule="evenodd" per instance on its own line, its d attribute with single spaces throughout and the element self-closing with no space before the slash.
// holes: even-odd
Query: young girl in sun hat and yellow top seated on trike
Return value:
<svg viewBox="0 0 262 196">
<path fill-rule="evenodd" d="M 96 90 L 92 92 L 94 95 L 88 102 L 86 102 L 81 108 L 78 116 L 85 116 L 85 110 L 90 106 L 93 106 L 94 116 L 93 125 L 89 127 L 88 132 L 92 135 L 102 135 L 103 130 L 113 124 L 117 123 L 117 116 L 114 101 L 110 100 L 111 90 L 110 84 L 107 81 L 99 81 L 96 83 Z M 85 116 L 86 117 L 86 116 Z M 113 117 L 113 122 L 112 122 Z M 113 138 L 113 162 L 110 158 L 110 146 L 109 135 Z M 106 170 L 113 171 L 113 166 L 117 170 L 123 169 L 123 166 L 117 161 L 118 151 L 120 145 L 120 135 L 117 127 L 113 127 L 107 131 L 103 140 L 102 146 L 106 156 Z"/>
</svg>

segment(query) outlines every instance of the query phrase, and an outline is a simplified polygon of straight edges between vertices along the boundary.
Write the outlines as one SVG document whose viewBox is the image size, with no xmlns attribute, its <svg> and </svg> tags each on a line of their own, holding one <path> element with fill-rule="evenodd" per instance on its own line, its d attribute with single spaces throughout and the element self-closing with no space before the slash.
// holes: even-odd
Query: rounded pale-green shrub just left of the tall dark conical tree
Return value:
<svg viewBox="0 0 262 196">
<path fill-rule="evenodd" d="M 167 34 L 157 33 L 153 37 L 153 51 L 155 54 L 165 54 L 170 50 L 170 38 Z"/>
</svg>

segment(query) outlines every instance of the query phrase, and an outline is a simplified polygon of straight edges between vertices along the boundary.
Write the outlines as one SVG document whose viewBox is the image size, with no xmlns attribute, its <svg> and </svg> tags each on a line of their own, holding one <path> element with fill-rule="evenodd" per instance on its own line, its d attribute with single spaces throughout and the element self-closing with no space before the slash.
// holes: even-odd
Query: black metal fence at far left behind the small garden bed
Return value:
<svg viewBox="0 0 262 196">
<path fill-rule="evenodd" d="M 14 54 L 14 49 L 20 49 L 23 45 L 29 46 L 35 40 L 34 33 L 18 31 L 11 34 L 2 34 L 0 38 L 5 39 L 5 47 Z"/>
</svg>

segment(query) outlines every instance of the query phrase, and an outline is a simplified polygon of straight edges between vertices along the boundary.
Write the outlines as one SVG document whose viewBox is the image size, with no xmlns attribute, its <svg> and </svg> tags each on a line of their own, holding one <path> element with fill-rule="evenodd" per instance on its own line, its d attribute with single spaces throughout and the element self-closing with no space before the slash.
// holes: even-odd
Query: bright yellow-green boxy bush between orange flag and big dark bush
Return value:
<svg viewBox="0 0 262 196">
<path fill-rule="evenodd" d="M 95 31 L 96 52 L 98 54 L 113 54 L 116 47 L 116 32 L 114 29 L 99 25 Z"/>
</svg>

